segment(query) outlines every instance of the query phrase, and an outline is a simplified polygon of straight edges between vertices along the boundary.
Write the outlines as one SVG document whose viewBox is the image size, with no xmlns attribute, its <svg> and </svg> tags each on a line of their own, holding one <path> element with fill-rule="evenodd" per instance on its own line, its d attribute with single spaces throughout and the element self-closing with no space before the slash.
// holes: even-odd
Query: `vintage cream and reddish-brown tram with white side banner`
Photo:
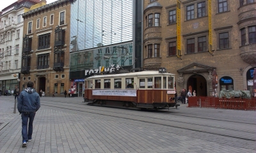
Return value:
<svg viewBox="0 0 256 153">
<path fill-rule="evenodd" d="M 159 71 L 95 75 L 84 79 L 84 101 L 126 108 L 177 108 L 174 80 L 175 75 Z"/>
</svg>

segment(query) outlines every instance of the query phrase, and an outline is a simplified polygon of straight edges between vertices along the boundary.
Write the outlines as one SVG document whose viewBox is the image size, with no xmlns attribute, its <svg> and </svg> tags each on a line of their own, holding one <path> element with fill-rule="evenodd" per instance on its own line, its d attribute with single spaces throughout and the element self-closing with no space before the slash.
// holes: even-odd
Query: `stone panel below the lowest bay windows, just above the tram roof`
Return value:
<svg viewBox="0 0 256 153">
<path fill-rule="evenodd" d="M 162 58 L 161 57 L 150 57 L 144 59 L 144 68 L 146 69 L 158 69 L 161 68 L 161 62 Z"/>
</svg>

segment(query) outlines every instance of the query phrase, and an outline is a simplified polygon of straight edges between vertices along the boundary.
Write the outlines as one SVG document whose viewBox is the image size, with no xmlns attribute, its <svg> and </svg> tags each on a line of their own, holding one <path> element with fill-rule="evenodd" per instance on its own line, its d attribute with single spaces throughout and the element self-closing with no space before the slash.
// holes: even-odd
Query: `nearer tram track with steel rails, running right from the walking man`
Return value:
<svg viewBox="0 0 256 153">
<path fill-rule="evenodd" d="M 55 107 L 55 108 L 62 108 L 62 109 L 67 109 L 67 110 L 74 110 L 74 111 L 85 112 L 85 113 L 94 113 L 97 115 L 104 115 L 104 116 L 109 116 L 109 117 L 117 117 L 120 119 L 129 119 L 129 120 L 145 122 L 145 123 L 150 123 L 150 124 L 155 124 L 155 125 L 167 126 L 168 128 L 179 128 L 179 129 L 196 131 L 196 132 L 200 132 L 200 133 L 208 133 L 208 134 L 212 134 L 212 135 L 227 136 L 229 138 L 237 138 L 240 140 L 248 140 L 251 142 L 256 141 L 255 138 L 246 138 L 246 136 L 243 136 L 243 134 L 255 135 L 255 132 L 250 132 L 250 131 L 245 131 L 245 130 L 237 130 L 237 129 L 223 128 L 223 127 L 216 128 L 216 127 L 202 125 L 202 124 L 193 124 L 191 122 L 182 122 L 182 121 L 170 120 L 170 119 L 159 119 L 156 117 L 148 117 L 148 116 L 146 117 L 145 115 L 134 115 L 131 113 L 124 113 L 124 112 L 122 114 L 120 114 L 117 112 L 104 111 L 104 113 L 103 113 L 103 112 L 99 112 L 100 110 L 97 110 L 97 109 L 92 109 L 92 108 L 89 109 L 89 108 L 84 108 L 84 107 L 82 108 L 82 107 L 78 107 L 78 106 L 72 106 L 72 108 L 70 108 L 70 105 L 65 105 L 65 106 L 63 105 L 63 103 L 69 103 L 69 102 L 59 102 L 59 103 L 61 103 L 61 105 L 58 105 L 55 103 L 47 103 L 47 104 L 41 103 L 41 105 L 51 106 L 51 107 Z M 74 102 L 72 102 L 72 104 L 74 104 Z M 81 103 L 76 103 L 76 104 L 81 104 Z M 58 106 L 56 106 L 56 105 L 58 105 Z M 74 109 L 74 108 L 76 108 L 76 109 Z M 118 115 L 114 115 L 115 113 L 117 113 Z M 185 117 L 188 117 L 188 116 L 185 116 Z M 193 118 L 204 119 L 202 117 L 193 117 Z M 210 120 L 210 119 L 208 119 L 208 120 Z M 228 121 L 228 120 L 221 120 L 221 121 L 232 122 L 232 121 Z M 173 122 L 175 122 L 175 125 L 172 124 Z M 236 122 L 236 123 L 240 123 L 240 122 Z M 183 126 L 182 126 L 182 124 L 183 124 Z M 189 126 L 184 126 L 184 124 L 193 125 L 195 127 L 198 127 L 199 129 L 198 128 L 189 128 Z M 150 128 L 154 128 L 154 127 L 150 126 Z M 215 128 L 216 130 L 215 131 L 207 130 L 209 128 L 210 129 Z M 237 133 L 237 135 L 227 135 L 227 134 L 225 134 L 225 132 L 223 132 L 225 130 L 234 131 L 234 133 Z M 166 130 L 164 130 L 164 131 L 166 131 Z M 166 132 L 170 132 L 170 131 L 166 131 Z"/>
</svg>

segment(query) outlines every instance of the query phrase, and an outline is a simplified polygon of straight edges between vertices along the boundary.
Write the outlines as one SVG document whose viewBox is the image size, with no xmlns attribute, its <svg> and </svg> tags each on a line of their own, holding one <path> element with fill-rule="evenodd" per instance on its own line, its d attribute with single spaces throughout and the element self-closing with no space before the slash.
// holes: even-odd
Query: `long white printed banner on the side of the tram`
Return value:
<svg viewBox="0 0 256 153">
<path fill-rule="evenodd" d="M 136 90 L 93 90 L 93 96 L 131 96 L 136 97 Z"/>
</svg>

